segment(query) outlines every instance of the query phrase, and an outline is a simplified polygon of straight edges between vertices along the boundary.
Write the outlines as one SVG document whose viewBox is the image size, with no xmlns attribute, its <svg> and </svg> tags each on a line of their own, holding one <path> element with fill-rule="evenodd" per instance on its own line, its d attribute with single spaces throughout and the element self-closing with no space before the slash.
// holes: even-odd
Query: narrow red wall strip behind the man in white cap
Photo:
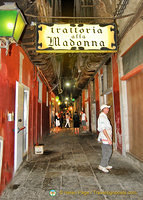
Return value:
<svg viewBox="0 0 143 200">
<path fill-rule="evenodd" d="M 122 131 L 121 131 L 121 114 L 120 114 L 120 94 L 119 94 L 119 76 L 117 54 L 112 56 L 112 71 L 113 71 L 113 96 L 114 96 L 114 111 L 116 123 L 117 149 L 122 152 Z"/>
</svg>

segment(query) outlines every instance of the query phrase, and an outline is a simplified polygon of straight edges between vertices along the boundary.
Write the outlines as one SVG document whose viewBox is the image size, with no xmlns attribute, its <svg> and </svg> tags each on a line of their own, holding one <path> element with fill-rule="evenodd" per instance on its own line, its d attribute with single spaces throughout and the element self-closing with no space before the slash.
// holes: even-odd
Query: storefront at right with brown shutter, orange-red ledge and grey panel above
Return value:
<svg viewBox="0 0 143 200">
<path fill-rule="evenodd" d="M 121 80 L 127 84 L 129 153 L 143 161 L 143 37 L 139 38 L 123 55 Z"/>
</svg>

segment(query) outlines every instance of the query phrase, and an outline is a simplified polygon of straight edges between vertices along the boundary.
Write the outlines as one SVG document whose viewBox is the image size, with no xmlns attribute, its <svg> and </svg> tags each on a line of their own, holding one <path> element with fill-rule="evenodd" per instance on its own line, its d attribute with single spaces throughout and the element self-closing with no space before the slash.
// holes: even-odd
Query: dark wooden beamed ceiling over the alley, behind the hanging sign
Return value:
<svg viewBox="0 0 143 200">
<path fill-rule="evenodd" d="M 37 53 L 35 46 L 35 25 L 37 22 L 112 23 L 114 21 L 115 1 L 76 0 L 74 2 L 74 0 L 1 0 L 0 5 L 5 1 L 16 2 L 17 6 L 26 18 L 27 26 L 21 37 L 20 45 L 26 51 L 31 62 L 35 66 L 38 66 L 38 68 L 43 72 L 51 87 L 55 88 L 56 93 L 59 92 L 58 89 L 63 87 L 66 80 L 72 80 L 74 82 L 74 89 L 72 90 L 73 96 L 77 97 L 79 91 L 85 87 L 90 77 L 95 74 L 100 63 L 107 57 L 107 55 L 105 53 Z M 69 16 L 69 18 L 67 16 Z M 86 19 L 85 17 L 88 18 Z M 94 17 L 94 19 L 92 17 Z M 59 86 L 61 88 L 59 88 Z"/>
</svg>

